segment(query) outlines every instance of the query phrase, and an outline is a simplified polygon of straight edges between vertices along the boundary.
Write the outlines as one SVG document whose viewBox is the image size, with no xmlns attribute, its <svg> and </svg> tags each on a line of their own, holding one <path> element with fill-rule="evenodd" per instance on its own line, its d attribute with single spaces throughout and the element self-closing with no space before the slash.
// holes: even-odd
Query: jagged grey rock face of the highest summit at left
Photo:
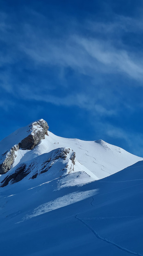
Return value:
<svg viewBox="0 0 143 256">
<path fill-rule="evenodd" d="M 31 150 L 41 141 L 41 139 L 45 139 L 45 135 L 48 135 L 49 127 L 47 122 L 43 119 L 33 122 L 29 128 L 30 129 L 27 132 L 31 133 L 20 141 L 18 145 L 14 145 L 8 153 L 5 152 L 3 154 L 3 162 L 0 164 L 0 174 L 5 174 L 10 170 L 11 165 L 16 158 L 16 151 L 18 151 L 19 148 L 23 150 Z"/>
</svg>

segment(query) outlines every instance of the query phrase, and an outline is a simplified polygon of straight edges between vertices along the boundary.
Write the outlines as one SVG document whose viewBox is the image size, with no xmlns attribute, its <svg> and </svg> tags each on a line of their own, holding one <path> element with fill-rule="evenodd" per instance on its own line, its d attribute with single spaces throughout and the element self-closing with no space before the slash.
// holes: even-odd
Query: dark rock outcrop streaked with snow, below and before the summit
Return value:
<svg viewBox="0 0 143 256">
<path fill-rule="evenodd" d="M 57 171 L 55 172 L 54 165 L 56 164 L 58 164 L 59 169 L 56 168 Z M 75 152 L 73 152 L 73 150 L 70 148 L 57 148 L 50 153 L 45 153 L 44 155 L 34 158 L 32 161 L 14 167 L 13 171 L 9 172 L 9 174 L 1 181 L 0 187 L 5 187 L 9 183 L 21 181 L 26 176 L 28 176 L 28 179 L 34 179 L 37 175 L 49 171 L 51 167 L 54 167 L 54 173 L 52 171 L 53 178 L 57 178 L 73 172 L 74 164 Z"/>
</svg>

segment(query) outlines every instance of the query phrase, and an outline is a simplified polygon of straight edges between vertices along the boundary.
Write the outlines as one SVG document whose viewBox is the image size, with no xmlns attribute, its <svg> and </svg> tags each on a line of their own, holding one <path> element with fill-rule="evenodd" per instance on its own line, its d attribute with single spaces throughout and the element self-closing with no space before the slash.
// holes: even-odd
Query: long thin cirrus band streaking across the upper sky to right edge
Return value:
<svg viewBox="0 0 143 256">
<path fill-rule="evenodd" d="M 37 42 L 36 42 L 37 45 Z M 134 53 L 116 49 L 110 42 L 78 36 L 66 42 L 34 42 L 23 45 L 22 50 L 37 63 L 43 65 L 70 66 L 79 73 L 95 77 L 95 73 L 121 73 L 135 80 L 143 79 L 143 63 Z M 141 54 L 142 55 L 142 54 Z"/>
</svg>

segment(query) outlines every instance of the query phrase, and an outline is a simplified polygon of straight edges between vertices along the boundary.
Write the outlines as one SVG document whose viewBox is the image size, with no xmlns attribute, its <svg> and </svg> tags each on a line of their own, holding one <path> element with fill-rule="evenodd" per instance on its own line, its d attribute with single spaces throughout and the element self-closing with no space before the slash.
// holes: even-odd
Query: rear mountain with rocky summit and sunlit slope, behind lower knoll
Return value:
<svg viewBox="0 0 143 256">
<path fill-rule="evenodd" d="M 0 142 L 0 174 L 57 148 L 71 148 L 76 159 L 97 178 L 105 178 L 143 158 L 105 141 L 67 139 L 48 132 L 43 119 L 18 129 Z M 45 139 L 44 139 L 45 138 Z"/>
</svg>

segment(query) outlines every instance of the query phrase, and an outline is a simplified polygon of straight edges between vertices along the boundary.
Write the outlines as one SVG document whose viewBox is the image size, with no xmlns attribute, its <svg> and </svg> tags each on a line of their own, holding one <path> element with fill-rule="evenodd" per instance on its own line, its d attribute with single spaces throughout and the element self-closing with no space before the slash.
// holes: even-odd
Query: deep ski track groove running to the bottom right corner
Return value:
<svg viewBox="0 0 143 256">
<path fill-rule="evenodd" d="M 89 224 L 87 224 L 83 219 L 77 217 L 78 214 L 76 214 L 75 218 L 77 220 L 79 220 L 82 224 L 84 224 L 86 226 L 86 228 L 88 228 L 89 230 L 91 230 L 91 232 L 95 235 L 96 238 L 104 241 L 104 242 L 107 242 L 108 244 L 112 244 L 114 245 L 115 247 L 117 247 L 118 249 L 120 249 L 121 251 L 125 251 L 129 254 L 132 254 L 132 255 L 137 255 L 137 256 L 143 256 L 143 254 L 140 254 L 140 253 L 137 253 L 135 251 L 130 251 L 129 249 L 125 248 L 125 247 L 122 247 L 120 246 L 119 244 L 116 244 L 115 242 L 111 241 L 111 240 L 108 240 L 107 238 L 104 238 L 104 237 L 101 237 Z"/>
</svg>

